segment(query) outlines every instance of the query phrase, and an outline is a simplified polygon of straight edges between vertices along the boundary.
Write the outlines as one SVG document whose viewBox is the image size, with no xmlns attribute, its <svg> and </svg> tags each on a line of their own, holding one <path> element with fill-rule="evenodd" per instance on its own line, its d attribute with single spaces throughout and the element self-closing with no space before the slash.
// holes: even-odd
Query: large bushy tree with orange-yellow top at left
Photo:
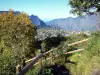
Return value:
<svg viewBox="0 0 100 75">
<path fill-rule="evenodd" d="M 14 75 L 15 66 L 34 50 L 36 27 L 25 13 L 0 14 L 0 75 Z"/>
</svg>

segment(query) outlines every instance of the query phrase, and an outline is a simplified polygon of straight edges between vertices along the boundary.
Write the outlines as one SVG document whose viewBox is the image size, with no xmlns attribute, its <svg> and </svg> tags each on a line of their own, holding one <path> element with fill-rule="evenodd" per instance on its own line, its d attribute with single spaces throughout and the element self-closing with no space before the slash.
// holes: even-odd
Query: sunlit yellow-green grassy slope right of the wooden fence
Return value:
<svg viewBox="0 0 100 75">
<path fill-rule="evenodd" d="M 71 66 L 73 75 L 99 75 L 100 73 L 100 31 L 92 34 L 77 64 Z M 72 57 L 71 59 L 73 59 Z M 74 60 L 76 61 L 76 60 Z"/>
</svg>

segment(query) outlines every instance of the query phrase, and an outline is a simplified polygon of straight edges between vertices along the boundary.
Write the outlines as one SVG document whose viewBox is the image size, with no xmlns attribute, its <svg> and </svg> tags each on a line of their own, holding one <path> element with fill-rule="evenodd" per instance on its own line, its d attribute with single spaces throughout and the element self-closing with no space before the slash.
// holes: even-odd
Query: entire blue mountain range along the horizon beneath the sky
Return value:
<svg viewBox="0 0 100 75">
<path fill-rule="evenodd" d="M 0 11 L 0 13 L 8 11 Z M 21 13 L 20 11 L 14 11 L 15 14 Z M 53 19 L 49 22 L 44 22 L 37 15 L 30 15 L 32 24 L 35 24 L 37 28 L 58 28 L 64 30 L 73 31 L 95 31 L 98 27 L 98 18 L 96 15 L 85 15 L 83 17 L 68 17 Z"/>
</svg>

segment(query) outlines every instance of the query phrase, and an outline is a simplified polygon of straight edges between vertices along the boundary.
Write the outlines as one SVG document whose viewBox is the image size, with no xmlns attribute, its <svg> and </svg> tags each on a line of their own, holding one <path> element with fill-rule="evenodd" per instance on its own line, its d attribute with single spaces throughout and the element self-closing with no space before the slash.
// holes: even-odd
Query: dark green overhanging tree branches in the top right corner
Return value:
<svg viewBox="0 0 100 75">
<path fill-rule="evenodd" d="M 100 29 L 100 0 L 69 0 L 71 5 L 71 13 L 77 15 L 84 14 L 96 14 L 99 18 L 99 29 Z"/>
</svg>

